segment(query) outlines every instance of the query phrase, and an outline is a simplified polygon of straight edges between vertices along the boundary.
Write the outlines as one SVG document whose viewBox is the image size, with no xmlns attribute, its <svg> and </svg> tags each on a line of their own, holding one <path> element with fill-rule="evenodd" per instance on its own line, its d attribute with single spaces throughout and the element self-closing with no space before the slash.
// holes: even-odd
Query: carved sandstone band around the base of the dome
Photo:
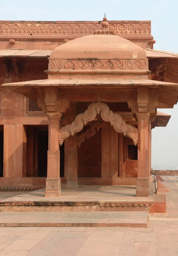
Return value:
<svg viewBox="0 0 178 256">
<path fill-rule="evenodd" d="M 63 65 L 62 65 L 63 63 Z M 147 70 L 147 59 L 49 59 L 49 70 Z"/>
</svg>

